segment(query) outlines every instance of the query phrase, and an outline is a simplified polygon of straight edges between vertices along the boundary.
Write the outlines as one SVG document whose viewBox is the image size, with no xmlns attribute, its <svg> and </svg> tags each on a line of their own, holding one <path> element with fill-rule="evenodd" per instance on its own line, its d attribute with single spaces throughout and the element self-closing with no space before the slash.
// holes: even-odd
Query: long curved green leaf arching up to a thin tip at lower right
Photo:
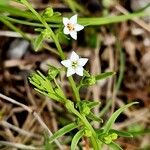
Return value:
<svg viewBox="0 0 150 150">
<path fill-rule="evenodd" d="M 130 104 L 127 104 L 125 106 L 122 106 L 121 108 L 119 108 L 117 111 L 115 111 L 111 117 L 109 118 L 109 120 L 106 122 L 106 124 L 104 125 L 104 133 L 108 133 L 109 130 L 111 129 L 112 125 L 114 124 L 115 120 L 117 119 L 117 117 L 128 107 L 137 104 L 138 102 L 133 102 Z"/>
</svg>

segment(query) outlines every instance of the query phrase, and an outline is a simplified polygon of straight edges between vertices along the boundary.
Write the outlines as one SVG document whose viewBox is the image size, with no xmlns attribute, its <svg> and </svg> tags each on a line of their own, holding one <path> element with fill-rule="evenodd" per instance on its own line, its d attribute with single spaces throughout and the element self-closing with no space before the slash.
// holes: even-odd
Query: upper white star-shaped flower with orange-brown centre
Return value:
<svg viewBox="0 0 150 150">
<path fill-rule="evenodd" d="M 70 19 L 63 18 L 64 34 L 70 34 L 73 39 L 77 39 L 77 31 L 80 31 L 84 26 L 77 24 L 77 15 L 72 16 Z"/>
</svg>

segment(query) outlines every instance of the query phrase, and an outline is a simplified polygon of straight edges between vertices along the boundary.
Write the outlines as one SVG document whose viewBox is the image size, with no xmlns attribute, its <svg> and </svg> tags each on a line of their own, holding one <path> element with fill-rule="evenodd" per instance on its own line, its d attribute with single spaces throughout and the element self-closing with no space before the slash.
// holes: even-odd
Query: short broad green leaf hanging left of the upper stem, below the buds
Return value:
<svg viewBox="0 0 150 150">
<path fill-rule="evenodd" d="M 43 39 L 44 39 L 44 36 L 42 33 L 38 35 L 36 39 L 34 39 L 33 47 L 36 52 L 42 47 Z"/>
</svg>

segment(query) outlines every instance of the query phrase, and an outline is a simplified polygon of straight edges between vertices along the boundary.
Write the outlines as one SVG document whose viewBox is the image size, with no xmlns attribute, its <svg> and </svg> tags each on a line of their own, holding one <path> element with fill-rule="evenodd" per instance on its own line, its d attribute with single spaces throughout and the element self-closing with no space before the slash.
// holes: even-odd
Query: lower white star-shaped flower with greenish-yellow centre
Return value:
<svg viewBox="0 0 150 150">
<path fill-rule="evenodd" d="M 70 59 L 61 61 L 61 64 L 67 68 L 67 77 L 75 73 L 79 76 L 83 76 L 83 66 L 87 63 L 87 61 L 87 58 L 79 58 L 79 56 L 73 51 Z"/>
</svg>

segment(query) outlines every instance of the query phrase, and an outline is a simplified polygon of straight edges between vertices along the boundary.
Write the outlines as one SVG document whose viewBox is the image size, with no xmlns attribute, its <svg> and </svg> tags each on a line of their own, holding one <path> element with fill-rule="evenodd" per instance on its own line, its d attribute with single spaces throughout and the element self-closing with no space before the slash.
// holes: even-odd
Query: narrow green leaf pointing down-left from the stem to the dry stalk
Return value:
<svg viewBox="0 0 150 150">
<path fill-rule="evenodd" d="M 64 134 L 70 132 L 71 130 L 73 130 L 77 127 L 78 127 L 78 125 L 76 123 L 70 123 L 70 124 L 64 126 L 60 130 L 55 132 L 51 137 L 49 137 L 49 143 L 52 143 L 55 139 L 63 136 Z"/>
</svg>

